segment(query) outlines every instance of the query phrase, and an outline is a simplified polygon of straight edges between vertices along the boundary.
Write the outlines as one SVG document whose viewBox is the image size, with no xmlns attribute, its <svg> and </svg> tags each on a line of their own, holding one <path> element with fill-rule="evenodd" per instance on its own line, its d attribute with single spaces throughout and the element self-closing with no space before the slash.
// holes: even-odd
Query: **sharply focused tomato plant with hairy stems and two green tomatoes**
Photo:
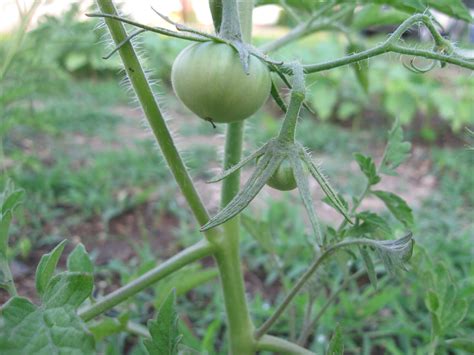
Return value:
<svg viewBox="0 0 474 355">
<path fill-rule="evenodd" d="M 265 0 L 257 3 L 273 2 Z M 468 17 L 470 21 L 469 12 L 465 10 L 462 3 L 457 0 L 454 2 L 457 6 L 448 6 L 442 2 L 436 2 L 433 6 L 450 16 L 463 19 Z M 375 187 L 382 176 L 396 175 L 396 169 L 410 154 L 411 145 L 404 141 L 399 122 L 396 121 L 389 132 L 388 143 L 379 164 L 376 164 L 370 156 L 355 155 L 366 183 L 362 193 L 353 196 L 348 202 L 332 188 L 320 167 L 313 162 L 309 152 L 296 139 L 298 121 L 303 118 L 301 108 L 308 107 L 305 101 L 307 90 L 305 78 L 307 75 L 341 66 L 356 65 L 361 62 L 366 64 L 369 58 L 386 53 L 429 59 L 432 65 L 428 69 L 451 64 L 473 70 L 474 62 L 466 58 L 462 51 L 441 35 L 429 11 L 422 6 L 422 2 L 407 5 L 404 1 L 387 1 L 388 5 L 392 5 L 397 10 L 397 19 L 400 18 L 400 12 L 405 11 L 402 14 L 403 22 L 384 42 L 375 47 L 368 49 L 359 47 L 357 50 L 350 50 L 349 55 L 322 63 L 302 64 L 298 61 L 285 62 L 270 57 L 272 51 L 322 29 L 341 32 L 349 42 L 354 42 L 352 37 L 356 34 L 347 26 L 350 26 L 351 19 L 360 15 L 360 6 L 363 10 L 367 10 L 366 3 L 368 3 L 367 6 L 371 6 L 371 13 L 374 6 L 375 11 L 384 10 L 384 6 L 381 6 L 378 0 L 304 1 L 304 4 L 296 1 L 278 2 L 294 21 L 302 23 L 281 38 L 256 48 L 250 44 L 254 8 L 252 0 L 212 0 L 210 4 L 215 34 L 174 23 L 159 13 L 157 14 L 176 27 L 176 31 L 142 25 L 121 17 L 112 0 L 97 0 L 101 12 L 90 14 L 90 16 L 105 19 L 105 24 L 116 45 L 106 58 L 114 53 L 120 55 L 129 83 L 137 95 L 161 153 L 196 223 L 201 226 L 203 236 L 194 245 L 181 250 L 169 260 L 151 268 L 130 283 L 97 298 L 92 292 L 94 288 L 93 264 L 82 245 L 79 244 L 70 253 L 66 271 L 56 273 L 56 266 L 65 246 L 65 243 L 60 243 L 50 253 L 43 255 L 39 262 L 36 271 L 36 290 L 41 306 L 37 306 L 17 295 L 9 269 L 8 230 L 22 192 L 12 185 L 7 186 L 0 195 L 0 275 L 2 275 L 0 285 L 5 287 L 12 297 L 1 309 L 0 350 L 7 349 L 11 354 L 35 352 L 92 354 L 95 350 L 96 339 L 100 339 L 104 334 L 107 336 L 126 332 L 145 338 L 144 348 L 150 354 L 176 354 L 181 350 L 185 353 L 193 353 L 193 350 L 186 347 L 188 344 L 181 344 L 182 328 L 178 326 L 178 315 L 174 308 L 177 292 L 167 292 L 167 296 L 160 295 L 161 299 L 156 307 L 157 319 L 149 320 L 148 327 L 137 324 L 130 318 L 128 311 L 117 317 L 111 317 L 110 314 L 113 313 L 109 311 L 120 304 L 127 304 L 128 299 L 165 277 L 171 274 L 176 275 L 176 272 L 183 267 L 205 257 L 213 257 L 220 276 L 230 354 L 250 355 L 262 351 L 313 354 L 311 350 L 314 349 L 309 350 L 305 346 L 308 345 L 308 339 L 311 336 L 318 338 L 317 325 L 322 316 L 322 313 L 319 313 L 311 318 L 314 300 L 313 303 L 309 300 L 308 311 L 302 317 L 304 322 L 298 327 L 301 333 L 299 339 L 296 339 L 295 334 L 290 336 L 290 341 L 270 333 L 305 287 L 314 288 L 314 285 L 309 284 L 315 284 L 326 290 L 326 285 L 321 284 L 324 274 L 315 278 L 316 272 L 321 268 L 327 268 L 325 270 L 327 271 L 332 260 L 332 267 L 343 270 L 341 279 L 331 282 L 335 282 L 339 290 L 342 290 L 349 284 L 357 289 L 361 277 L 377 287 L 377 280 L 380 274 L 384 273 L 380 269 L 391 274 L 399 274 L 406 270 L 414 246 L 411 230 L 414 229 L 415 222 L 412 210 L 401 197 Z M 140 29 L 128 34 L 123 23 Z M 424 25 L 432 35 L 434 43 L 431 49 L 411 47 L 402 41 L 402 36 L 407 31 L 420 24 Z M 214 182 L 222 181 L 221 209 L 212 217 L 201 200 L 181 154 L 176 148 L 174 138 L 162 114 L 162 108 L 156 100 L 152 86 L 131 43 L 131 39 L 144 31 L 197 42 L 186 48 L 173 65 L 174 90 L 182 102 L 202 119 L 229 123 L 226 133 L 224 169 L 213 180 Z M 418 73 L 426 71 L 416 67 L 413 61 L 407 67 Z M 7 69 L 5 66 L 1 74 L 3 75 Z M 365 65 L 356 69 L 359 70 L 361 85 L 367 87 L 366 70 L 369 68 Z M 272 76 L 271 73 L 274 75 Z M 279 78 L 289 90 L 288 100 L 280 95 L 281 90 L 277 87 L 275 78 Z M 284 112 L 280 132 L 255 152 L 242 158 L 243 120 L 264 104 L 269 93 Z M 240 188 L 240 169 L 255 160 L 257 160 L 255 169 Z M 341 215 L 342 222 L 331 226 L 321 225 L 312 199 L 310 178 L 317 182 L 325 195 L 325 202 Z M 294 277 L 291 279 L 293 284 L 285 289 L 286 295 L 281 302 L 278 299 L 280 303 L 272 305 L 271 313 L 265 314 L 268 318 L 257 325 L 262 317 L 251 315 L 243 278 L 244 263 L 239 249 L 240 217 L 266 184 L 280 190 L 298 188 L 302 205 L 311 225 L 311 231 L 307 232 L 307 239 L 313 261 L 296 280 Z M 386 206 L 393 220 L 398 223 L 398 232 L 392 228 L 390 220 L 377 213 L 361 210 L 362 202 L 368 196 L 379 199 Z M 249 228 L 249 219 L 243 218 L 242 221 L 243 224 L 247 221 L 247 228 Z M 271 230 L 259 229 L 260 227 L 261 224 L 257 223 L 255 228 L 249 229 L 256 231 L 256 239 L 265 249 L 271 249 L 271 240 L 265 240 L 269 235 L 271 236 Z M 340 259 L 333 258 L 336 253 L 346 249 L 352 251 L 340 253 Z M 374 254 L 377 259 L 374 259 Z M 275 254 L 271 256 L 278 261 Z M 352 258 L 351 262 L 348 262 L 349 257 Z M 358 262 L 353 263 L 354 260 Z M 384 267 L 376 268 L 374 260 Z M 279 263 L 277 264 L 280 267 Z M 284 268 L 281 268 L 280 272 L 283 273 Z M 206 276 L 204 279 L 209 280 L 209 277 Z M 313 281 L 309 282 L 310 280 Z M 194 282 L 189 282 L 189 284 L 195 286 L 195 280 L 192 281 Z M 438 280 L 435 281 L 433 285 L 438 284 Z M 182 289 L 187 290 L 192 288 L 191 286 L 187 285 Z M 327 303 L 321 307 L 322 312 L 327 309 L 328 304 L 334 302 L 338 293 L 339 291 L 334 292 L 327 298 Z M 444 290 L 439 292 L 440 295 L 441 293 L 447 295 Z M 468 305 L 463 300 L 447 302 L 457 296 L 454 291 L 450 295 L 452 297 L 442 299 L 453 309 L 449 317 L 446 317 L 447 308 L 441 309 L 439 302 L 441 298 L 435 292 L 428 293 L 427 305 L 433 316 L 433 336 L 430 344 L 424 345 L 422 351 L 427 350 L 435 354 L 442 346 L 452 344 L 472 346 L 471 343 L 466 343 L 465 339 L 457 339 L 453 335 L 451 328 L 462 321 L 467 313 Z M 326 298 L 325 292 L 324 298 Z M 91 322 L 93 320 L 97 321 Z M 439 323 L 442 321 L 445 323 L 441 327 Z M 325 349 L 331 355 L 342 354 L 344 351 L 343 329 L 336 325 L 332 328 L 333 337 Z M 94 337 L 91 333 L 94 333 Z M 444 336 L 451 338 L 443 341 Z M 48 340 L 47 344 L 45 344 L 45 339 Z"/>
</svg>

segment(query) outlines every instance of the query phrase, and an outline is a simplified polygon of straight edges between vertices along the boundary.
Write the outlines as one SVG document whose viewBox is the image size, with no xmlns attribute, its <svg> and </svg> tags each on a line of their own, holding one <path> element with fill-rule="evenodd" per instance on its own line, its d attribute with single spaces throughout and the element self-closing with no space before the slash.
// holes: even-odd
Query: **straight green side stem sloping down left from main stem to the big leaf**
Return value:
<svg viewBox="0 0 474 355">
<path fill-rule="evenodd" d="M 147 273 L 133 280 L 129 284 L 120 287 L 114 292 L 99 299 L 96 303 L 86 306 L 79 311 L 79 316 L 85 320 L 92 318 L 112 309 L 119 303 L 136 295 L 154 283 L 181 269 L 182 267 L 212 255 L 215 248 L 207 240 L 201 240 L 191 247 L 188 247 L 164 263 L 156 266 Z"/>
</svg>

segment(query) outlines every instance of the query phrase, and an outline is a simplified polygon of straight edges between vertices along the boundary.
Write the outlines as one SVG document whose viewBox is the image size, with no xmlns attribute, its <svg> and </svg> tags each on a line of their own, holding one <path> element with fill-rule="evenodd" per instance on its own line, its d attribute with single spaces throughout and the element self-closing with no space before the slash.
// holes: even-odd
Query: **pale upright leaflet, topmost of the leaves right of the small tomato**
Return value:
<svg viewBox="0 0 474 355">
<path fill-rule="evenodd" d="M 397 175 L 395 169 L 408 159 L 410 151 L 411 144 L 403 141 L 403 130 L 400 121 L 396 120 L 388 135 L 380 171 L 386 175 Z"/>
</svg>

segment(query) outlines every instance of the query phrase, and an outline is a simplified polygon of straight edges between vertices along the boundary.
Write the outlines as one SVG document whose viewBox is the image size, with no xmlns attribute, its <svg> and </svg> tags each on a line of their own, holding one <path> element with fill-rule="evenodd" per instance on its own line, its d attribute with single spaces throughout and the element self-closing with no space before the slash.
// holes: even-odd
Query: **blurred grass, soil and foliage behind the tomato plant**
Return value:
<svg viewBox="0 0 474 355">
<path fill-rule="evenodd" d="M 296 3 L 301 5 L 298 11 L 305 11 L 305 4 L 311 5 L 312 1 Z M 380 15 L 379 10 L 367 6 L 364 11 L 370 16 L 354 19 L 357 28 L 371 28 L 360 34 L 367 35 L 369 45 L 386 36 L 385 27 L 371 27 L 370 19 Z M 402 10 L 393 8 L 384 13 L 382 24 L 390 28 L 405 19 Z M 456 11 L 453 9 L 451 15 L 462 18 L 463 13 Z M 64 237 L 82 240 L 92 250 L 99 265 L 98 294 L 146 272 L 157 258 L 164 259 L 200 238 L 158 149 L 143 127 L 127 84 L 122 85 L 125 89 L 118 85 L 123 78 L 118 57 L 102 59 L 107 53 L 101 44 L 106 41 L 103 29 L 97 28 L 96 21 L 79 21 L 79 14 L 76 4 L 58 16 L 41 18 L 1 82 L 0 186 L 8 177 L 26 190 L 26 202 L 13 228 L 10 256 L 20 279 L 20 293 L 31 297 L 35 294 L 28 280 L 39 256 Z M 279 24 L 295 25 L 285 13 Z M 257 31 L 255 43 L 274 39 L 278 32 Z M 472 49 L 466 36 L 464 33 L 458 40 Z M 11 39 L 9 34 L 0 38 L 0 62 Z M 415 44 L 417 38 L 405 40 Z M 150 77 L 158 83 L 157 92 L 167 115 L 174 118 L 170 125 L 198 188 L 205 189 L 202 182 L 218 167 L 223 128 L 213 130 L 193 117 L 172 94 L 171 65 L 186 43 L 148 33 L 135 43 L 143 53 Z M 344 55 L 346 47 L 344 36 L 320 32 L 278 50 L 274 57 L 319 62 Z M 472 304 L 464 310 L 453 301 L 471 301 L 474 294 L 474 155 L 466 148 L 465 133 L 465 128 L 474 124 L 474 80 L 471 73 L 455 67 L 415 74 L 401 61 L 394 55 L 371 59 L 367 87 L 360 84 L 351 67 L 308 78 L 309 104 L 316 115 L 305 113 L 299 139 L 317 158 L 324 158 L 328 175 L 343 195 L 357 195 L 364 182 L 353 169 L 352 154 L 361 151 L 380 158 L 387 128 L 397 117 L 404 125 L 415 148 L 400 180 L 391 182 L 391 187 L 405 196 L 413 195 L 409 202 L 414 204 L 414 234 L 419 245 L 412 271 L 402 280 L 384 277 L 383 286 L 377 290 L 365 280 L 339 294 L 338 301 L 314 329 L 317 336 L 309 337 L 311 349 L 318 353 L 327 347 L 336 323 L 344 329 L 349 353 L 426 353 L 433 335 L 434 312 L 427 289 L 433 290 L 448 311 L 464 312 L 459 322 L 455 319 L 443 330 L 442 336 L 468 338 L 474 333 Z M 269 103 L 249 119 L 247 148 L 273 136 L 280 118 L 281 113 Z M 216 191 L 204 191 L 206 202 L 213 208 Z M 271 314 L 286 283 L 294 280 L 312 257 L 305 242 L 305 221 L 301 210 L 295 208 L 295 198 L 270 192 L 265 195 L 267 203 L 262 205 L 265 207 L 260 217 L 272 231 L 272 258 L 252 236 L 252 228 L 246 228 L 244 267 L 252 312 L 258 322 Z M 344 276 L 338 263 L 351 265 L 357 261 L 343 255 L 334 265 L 328 265 L 318 279 L 324 287 L 298 296 L 296 319 L 288 315 L 277 325 L 276 333 L 295 332 L 291 324 L 305 321 L 308 299 L 316 310 L 323 306 Z M 176 279 L 182 282 L 170 280 L 137 296 L 127 305 L 130 317 L 138 321 L 149 318 L 160 302 L 158 296 L 178 282 L 181 294 L 186 295 L 179 298 L 185 343 L 203 352 L 221 353 L 225 347 L 224 324 L 216 314 L 222 311 L 222 301 L 214 286 L 207 283 L 215 277 L 215 271 L 203 270 L 185 270 Z M 192 292 L 186 287 L 186 272 L 202 278 L 202 285 Z M 450 287 L 456 289 L 455 295 L 447 294 Z M 107 354 L 143 353 L 143 346 L 125 333 L 107 337 L 101 346 Z M 462 348 L 445 344 L 443 349 L 469 353 Z"/>
</svg>

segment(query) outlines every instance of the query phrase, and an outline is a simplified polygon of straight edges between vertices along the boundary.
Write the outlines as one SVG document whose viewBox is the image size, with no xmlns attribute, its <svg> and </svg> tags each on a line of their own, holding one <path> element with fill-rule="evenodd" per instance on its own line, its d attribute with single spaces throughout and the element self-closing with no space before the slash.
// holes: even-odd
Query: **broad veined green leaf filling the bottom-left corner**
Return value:
<svg viewBox="0 0 474 355">
<path fill-rule="evenodd" d="M 88 281 L 84 282 L 83 277 Z M 94 338 L 76 314 L 77 306 L 92 290 L 91 276 L 60 274 L 56 278 L 57 282 L 51 282 L 46 290 L 47 294 L 55 295 L 42 306 L 38 307 L 26 298 L 13 297 L 2 307 L 2 354 L 96 353 Z M 84 286 L 89 294 L 82 289 Z"/>
</svg>

